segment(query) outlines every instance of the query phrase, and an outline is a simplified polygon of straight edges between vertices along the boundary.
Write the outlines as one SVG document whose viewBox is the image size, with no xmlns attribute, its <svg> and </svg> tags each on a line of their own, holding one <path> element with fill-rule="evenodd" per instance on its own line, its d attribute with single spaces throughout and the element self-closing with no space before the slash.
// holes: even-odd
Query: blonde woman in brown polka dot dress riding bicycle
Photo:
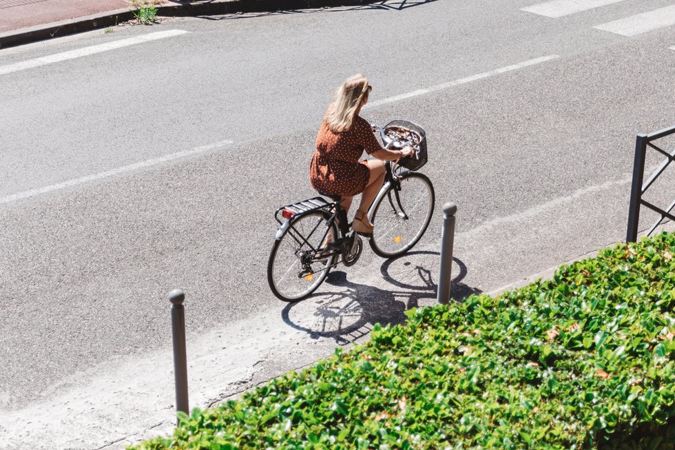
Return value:
<svg viewBox="0 0 675 450">
<path fill-rule="evenodd" d="M 316 138 L 316 152 L 309 167 L 312 187 L 320 194 L 341 196 L 340 206 L 349 211 L 353 196 L 361 194 L 361 203 L 352 228 L 363 235 L 373 233 L 368 208 L 384 181 L 384 162 L 413 154 L 411 147 L 386 150 L 377 141 L 368 122 L 359 116 L 372 90 L 368 79 L 356 74 L 335 92 Z M 375 157 L 361 161 L 363 152 Z"/>
</svg>

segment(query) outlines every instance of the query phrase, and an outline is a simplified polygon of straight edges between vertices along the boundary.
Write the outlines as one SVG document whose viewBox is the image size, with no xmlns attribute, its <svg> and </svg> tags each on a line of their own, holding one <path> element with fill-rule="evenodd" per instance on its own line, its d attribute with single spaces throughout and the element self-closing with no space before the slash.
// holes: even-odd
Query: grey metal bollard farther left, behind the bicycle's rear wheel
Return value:
<svg viewBox="0 0 675 450">
<path fill-rule="evenodd" d="M 176 380 L 176 412 L 189 414 L 187 399 L 187 356 L 185 351 L 185 294 L 174 289 L 169 294 L 171 307 L 171 328 L 174 336 L 174 378 Z M 176 419 L 176 425 L 180 423 Z"/>
</svg>

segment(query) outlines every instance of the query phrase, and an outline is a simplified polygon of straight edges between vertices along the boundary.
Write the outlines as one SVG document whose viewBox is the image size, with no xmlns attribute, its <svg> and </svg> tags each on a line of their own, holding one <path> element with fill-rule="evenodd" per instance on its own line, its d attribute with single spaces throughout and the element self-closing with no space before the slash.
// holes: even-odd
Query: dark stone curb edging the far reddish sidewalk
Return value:
<svg viewBox="0 0 675 450">
<path fill-rule="evenodd" d="M 180 0 L 174 0 L 180 1 Z M 231 0 L 157 6 L 158 17 L 193 17 L 236 12 L 273 12 L 336 6 L 360 6 L 375 0 Z M 132 10 L 114 10 L 0 33 L 0 49 L 118 25 L 134 19 Z"/>
</svg>

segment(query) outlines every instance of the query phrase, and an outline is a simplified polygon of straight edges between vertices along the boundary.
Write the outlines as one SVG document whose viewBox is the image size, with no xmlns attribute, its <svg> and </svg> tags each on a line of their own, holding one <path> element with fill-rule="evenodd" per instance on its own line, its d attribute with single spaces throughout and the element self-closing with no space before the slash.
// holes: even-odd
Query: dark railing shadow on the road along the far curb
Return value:
<svg viewBox="0 0 675 450">
<path fill-rule="evenodd" d="M 349 11 L 362 11 L 362 10 L 391 10 L 391 11 L 402 11 L 407 8 L 413 8 L 414 6 L 421 6 L 426 3 L 432 3 L 437 0 L 373 0 L 373 1 L 364 1 L 360 4 L 344 5 L 340 1 L 335 1 L 335 4 L 332 6 L 325 6 L 324 8 L 313 8 L 313 9 L 304 9 L 307 8 L 307 3 L 304 0 L 295 0 L 287 1 L 284 3 L 286 9 L 277 10 L 277 11 L 268 11 L 265 10 L 264 3 L 250 3 L 245 5 L 236 5 L 236 12 L 222 13 L 219 8 L 222 8 L 222 3 L 219 0 L 203 0 L 203 1 L 194 1 L 194 0 L 174 0 L 176 3 L 179 3 L 180 6 L 187 5 L 198 5 L 200 9 L 205 11 L 203 14 L 216 14 L 218 17 L 209 16 L 209 15 L 196 15 L 194 17 L 198 19 L 205 19 L 211 21 L 220 21 L 220 20 L 233 20 L 233 19 L 254 19 L 256 17 L 267 17 L 267 16 L 276 16 L 279 14 L 310 14 L 313 12 L 349 12 Z M 352 2 L 355 3 L 355 2 Z M 234 5 L 233 5 L 234 6 Z M 330 8 L 326 10 L 326 8 Z M 174 12 L 176 15 L 180 15 L 182 10 L 178 9 Z M 220 14 L 218 14 L 220 12 Z M 189 12 L 185 15 L 192 16 Z"/>
</svg>

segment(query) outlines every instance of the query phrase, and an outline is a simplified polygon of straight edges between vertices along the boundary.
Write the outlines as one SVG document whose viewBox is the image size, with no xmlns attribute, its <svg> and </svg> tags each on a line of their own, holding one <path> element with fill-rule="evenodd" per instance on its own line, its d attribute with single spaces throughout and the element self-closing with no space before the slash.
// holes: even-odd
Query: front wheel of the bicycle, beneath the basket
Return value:
<svg viewBox="0 0 675 450">
<path fill-rule="evenodd" d="M 371 216 L 374 228 L 369 243 L 373 252 L 392 258 L 413 248 L 429 226 L 434 202 L 433 185 L 423 174 L 405 174 L 400 191 L 388 187 Z"/>
</svg>

